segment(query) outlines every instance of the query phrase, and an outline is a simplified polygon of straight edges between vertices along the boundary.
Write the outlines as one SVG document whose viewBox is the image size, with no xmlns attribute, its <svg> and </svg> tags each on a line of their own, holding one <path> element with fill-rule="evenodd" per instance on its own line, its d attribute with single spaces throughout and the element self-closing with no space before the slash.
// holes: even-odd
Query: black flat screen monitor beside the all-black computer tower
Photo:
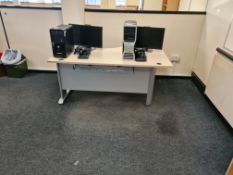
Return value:
<svg viewBox="0 0 233 175">
<path fill-rule="evenodd" d="M 102 27 L 71 24 L 73 44 L 86 47 L 102 47 Z"/>
</svg>

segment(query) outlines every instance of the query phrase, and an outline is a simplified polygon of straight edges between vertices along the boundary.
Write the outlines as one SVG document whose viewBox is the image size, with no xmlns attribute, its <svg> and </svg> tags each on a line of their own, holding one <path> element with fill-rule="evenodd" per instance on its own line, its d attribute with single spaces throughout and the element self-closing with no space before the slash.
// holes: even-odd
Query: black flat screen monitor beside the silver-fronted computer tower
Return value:
<svg viewBox="0 0 233 175">
<path fill-rule="evenodd" d="M 164 28 L 138 27 L 135 47 L 145 49 L 162 49 L 164 34 Z"/>
</svg>

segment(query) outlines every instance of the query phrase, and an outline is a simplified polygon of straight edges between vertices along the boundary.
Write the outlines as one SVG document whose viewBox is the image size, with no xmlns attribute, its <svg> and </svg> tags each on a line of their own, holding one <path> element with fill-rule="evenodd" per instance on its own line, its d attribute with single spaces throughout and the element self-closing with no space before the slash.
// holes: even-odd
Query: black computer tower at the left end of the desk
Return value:
<svg viewBox="0 0 233 175">
<path fill-rule="evenodd" d="M 66 58 L 74 49 L 71 25 L 59 25 L 50 29 L 53 55 Z"/>
</svg>

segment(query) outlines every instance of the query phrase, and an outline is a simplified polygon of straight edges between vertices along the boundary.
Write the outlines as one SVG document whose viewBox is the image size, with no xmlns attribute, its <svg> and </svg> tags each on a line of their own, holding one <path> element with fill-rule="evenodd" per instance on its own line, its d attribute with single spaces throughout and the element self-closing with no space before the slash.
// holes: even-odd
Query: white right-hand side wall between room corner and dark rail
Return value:
<svg viewBox="0 0 233 175">
<path fill-rule="evenodd" d="M 193 71 L 206 84 L 217 47 L 223 47 L 233 17 L 232 0 L 209 0 Z"/>
</svg>

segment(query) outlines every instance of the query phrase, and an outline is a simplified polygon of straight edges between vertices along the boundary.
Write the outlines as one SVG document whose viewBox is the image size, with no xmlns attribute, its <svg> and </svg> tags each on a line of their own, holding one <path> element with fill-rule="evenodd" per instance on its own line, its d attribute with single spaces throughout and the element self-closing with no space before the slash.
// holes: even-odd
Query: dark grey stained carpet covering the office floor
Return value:
<svg viewBox="0 0 233 175">
<path fill-rule="evenodd" d="M 73 92 L 55 74 L 0 78 L 2 175 L 223 175 L 233 136 L 189 79 L 144 95 Z"/>
</svg>

